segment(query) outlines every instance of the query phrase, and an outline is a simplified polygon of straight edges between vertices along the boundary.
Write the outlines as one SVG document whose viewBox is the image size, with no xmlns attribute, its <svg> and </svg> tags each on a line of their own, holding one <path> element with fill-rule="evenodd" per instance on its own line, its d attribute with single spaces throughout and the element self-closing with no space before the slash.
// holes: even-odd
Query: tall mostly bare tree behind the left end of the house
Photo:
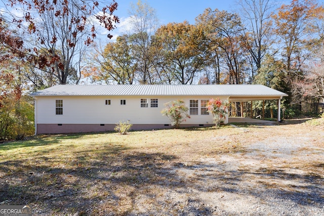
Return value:
<svg viewBox="0 0 324 216">
<path fill-rule="evenodd" d="M 75 82 L 78 82 L 85 46 L 96 38 L 95 21 L 108 31 L 118 22 L 113 15 L 117 8 L 114 0 L 102 9 L 97 1 L 92 0 L 9 0 L 8 6 L 23 10 L 22 17 L 10 15 L 14 27 L 21 29 L 21 35 L 29 33 L 22 41 L 28 48 L 28 53 L 24 53 L 28 62 L 45 73 L 52 73 L 61 84 L 67 83 L 75 72 L 78 74 Z M 22 25 L 23 22 L 27 25 Z M 107 36 L 112 37 L 110 34 Z"/>
</svg>

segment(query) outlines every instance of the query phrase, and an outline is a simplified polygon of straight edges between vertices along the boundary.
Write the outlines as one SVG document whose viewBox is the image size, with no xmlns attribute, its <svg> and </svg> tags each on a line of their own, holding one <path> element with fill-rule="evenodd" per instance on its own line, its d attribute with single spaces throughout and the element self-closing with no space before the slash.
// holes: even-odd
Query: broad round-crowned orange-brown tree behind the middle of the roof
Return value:
<svg viewBox="0 0 324 216">
<path fill-rule="evenodd" d="M 201 28 L 188 22 L 169 23 L 155 33 L 155 46 L 161 52 L 161 67 L 174 82 L 192 84 L 205 65 L 206 37 Z"/>
</svg>

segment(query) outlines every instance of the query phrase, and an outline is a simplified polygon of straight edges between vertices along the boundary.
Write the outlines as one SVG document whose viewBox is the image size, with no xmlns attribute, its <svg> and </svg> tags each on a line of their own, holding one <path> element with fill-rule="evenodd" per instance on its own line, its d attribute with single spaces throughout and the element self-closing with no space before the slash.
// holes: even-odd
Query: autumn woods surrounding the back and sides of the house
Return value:
<svg viewBox="0 0 324 216">
<path fill-rule="evenodd" d="M 26 95 L 55 84 L 264 84 L 289 94 L 281 100 L 286 117 L 318 114 L 324 106 L 323 5 L 274 3 L 240 0 L 239 13 L 209 8 L 194 24 L 159 25 L 155 10 L 138 1 L 130 9 L 132 30 L 100 45 L 96 23 L 115 28 L 114 1 L 9 0 L 0 13 L 0 139 L 30 135 Z M 253 108 L 261 110 L 262 102 Z"/>
</svg>

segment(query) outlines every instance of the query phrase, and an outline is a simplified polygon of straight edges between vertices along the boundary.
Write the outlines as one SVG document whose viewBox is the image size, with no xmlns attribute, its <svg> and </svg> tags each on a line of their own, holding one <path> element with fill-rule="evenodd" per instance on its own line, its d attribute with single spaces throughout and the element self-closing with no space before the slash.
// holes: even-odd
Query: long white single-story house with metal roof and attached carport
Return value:
<svg viewBox="0 0 324 216">
<path fill-rule="evenodd" d="M 280 102 L 288 95 L 264 85 L 56 85 L 30 96 L 35 134 L 55 134 L 113 131 L 119 121 L 129 121 L 132 129 L 168 128 L 171 121 L 161 110 L 174 100 L 189 108 L 191 118 L 181 125 L 209 126 L 214 122 L 205 106 L 211 98 Z"/>
</svg>

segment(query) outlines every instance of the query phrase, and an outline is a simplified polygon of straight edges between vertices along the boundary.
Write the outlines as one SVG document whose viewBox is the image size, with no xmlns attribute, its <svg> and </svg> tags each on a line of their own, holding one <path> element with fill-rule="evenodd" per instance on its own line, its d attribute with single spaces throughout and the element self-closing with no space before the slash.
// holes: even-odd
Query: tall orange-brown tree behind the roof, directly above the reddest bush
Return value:
<svg viewBox="0 0 324 216">
<path fill-rule="evenodd" d="M 242 24 L 238 14 L 210 8 L 196 18 L 198 26 L 204 29 L 209 41 L 210 62 L 215 64 L 217 82 L 220 70 L 224 68 L 224 82 L 240 84 L 245 82 L 244 65 L 246 50 L 242 49 Z M 206 56 L 208 58 L 208 55 Z"/>
</svg>

